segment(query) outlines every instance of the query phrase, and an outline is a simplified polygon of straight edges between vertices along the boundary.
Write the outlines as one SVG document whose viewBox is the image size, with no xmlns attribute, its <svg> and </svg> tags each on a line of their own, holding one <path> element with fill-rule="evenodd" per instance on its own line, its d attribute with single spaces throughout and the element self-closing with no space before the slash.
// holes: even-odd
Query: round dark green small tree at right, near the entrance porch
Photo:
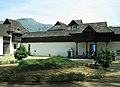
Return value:
<svg viewBox="0 0 120 87">
<path fill-rule="evenodd" d="M 99 64 L 101 65 L 105 70 L 110 67 L 113 60 L 113 51 L 106 49 L 101 49 L 97 52 L 95 60 L 95 65 Z"/>
</svg>

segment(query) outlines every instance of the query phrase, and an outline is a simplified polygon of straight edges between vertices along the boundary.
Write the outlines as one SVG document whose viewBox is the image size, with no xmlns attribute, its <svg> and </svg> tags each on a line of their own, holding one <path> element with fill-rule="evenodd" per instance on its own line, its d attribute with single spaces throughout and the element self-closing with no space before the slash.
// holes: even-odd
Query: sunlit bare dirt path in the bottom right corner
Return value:
<svg viewBox="0 0 120 87">
<path fill-rule="evenodd" d="M 120 58 L 113 62 L 112 67 L 102 79 L 87 82 L 74 82 L 79 87 L 120 87 Z"/>
</svg>

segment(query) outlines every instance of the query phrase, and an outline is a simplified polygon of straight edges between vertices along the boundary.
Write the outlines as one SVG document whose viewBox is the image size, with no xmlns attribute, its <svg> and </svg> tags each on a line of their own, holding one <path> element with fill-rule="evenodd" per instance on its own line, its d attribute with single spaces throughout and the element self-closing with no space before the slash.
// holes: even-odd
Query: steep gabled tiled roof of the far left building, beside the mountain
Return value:
<svg viewBox="0 0 120 87">
<path fill-rule="evenodd" d="M 12 19 L 6 19 L 3 23 L 3 25 L 11 25 L 11 27 L 8 29 L 9 31 L 12 31 L 13 33 L 25 33 L 28 32 L 19 21 L 12 20 Z M 20 31 L 18 31 L 20 29 Z"/>
</svg>

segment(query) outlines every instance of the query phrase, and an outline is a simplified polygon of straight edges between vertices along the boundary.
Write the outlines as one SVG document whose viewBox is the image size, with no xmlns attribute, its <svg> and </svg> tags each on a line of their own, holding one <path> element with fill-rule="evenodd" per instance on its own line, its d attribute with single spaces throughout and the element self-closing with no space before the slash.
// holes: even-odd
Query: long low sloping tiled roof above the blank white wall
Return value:
<svg viewBox="0 0 120 87">
<path fill-rule="evenodd" d="M 69 31 L 26 32 L 22 38 L 70 36 Z"/>
</svg>

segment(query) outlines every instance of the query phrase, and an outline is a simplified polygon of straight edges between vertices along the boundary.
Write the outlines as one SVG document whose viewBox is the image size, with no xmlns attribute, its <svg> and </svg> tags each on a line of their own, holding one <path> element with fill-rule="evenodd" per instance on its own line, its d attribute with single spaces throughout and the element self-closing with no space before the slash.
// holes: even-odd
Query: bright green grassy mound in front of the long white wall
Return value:
<svg viewBox="0 0 120 87">
<path fill-rule="evenodd" d="M 69 58 L 64 57 L 51 57 L 49 59 L 29 59 L 22 60 L 14 71 L 31 71 L 31 70 L 49 70 L 58 68 L 71 68 L 76 67 L 82 63 L 76 63 Z"/>
</svg>

